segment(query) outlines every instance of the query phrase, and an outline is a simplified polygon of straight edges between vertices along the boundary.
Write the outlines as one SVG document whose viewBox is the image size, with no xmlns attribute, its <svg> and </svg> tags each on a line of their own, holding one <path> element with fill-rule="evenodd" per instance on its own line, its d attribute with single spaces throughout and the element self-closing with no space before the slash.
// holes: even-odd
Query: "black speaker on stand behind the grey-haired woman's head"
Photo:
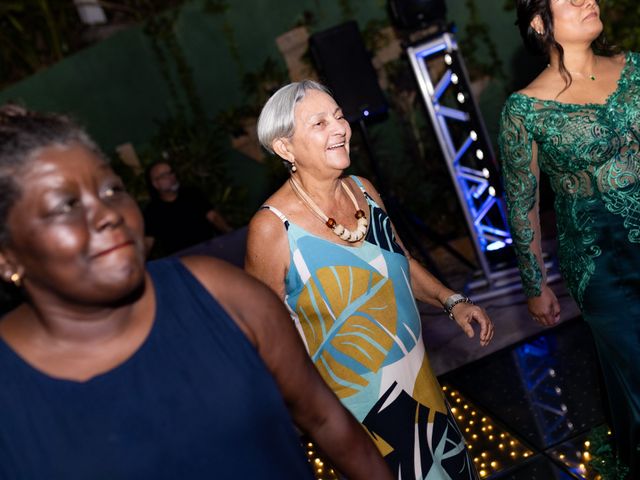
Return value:
<svg viewBox="0 0 640 480">
<path fill-rule="evenodd" d="M 309 50 L 349 122 L 387 111 L 387 101 L 356 22 L 314 33 L 309 38 Z"/>
</svg>

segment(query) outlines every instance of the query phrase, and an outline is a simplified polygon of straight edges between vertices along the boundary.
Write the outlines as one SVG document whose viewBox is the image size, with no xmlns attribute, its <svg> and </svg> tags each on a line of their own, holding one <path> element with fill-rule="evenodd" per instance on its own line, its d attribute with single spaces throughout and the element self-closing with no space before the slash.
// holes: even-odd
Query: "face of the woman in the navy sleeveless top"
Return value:
<svg viewBox="0 0 640 480">
<path fill-rule="evenodd" d="M 110 305 L 144 280 L 143 222 L 122 181 L 79 145 L 39 151 L 16 175 L 2 266 L 21 272 L 30 297 Z"/>
</svg>

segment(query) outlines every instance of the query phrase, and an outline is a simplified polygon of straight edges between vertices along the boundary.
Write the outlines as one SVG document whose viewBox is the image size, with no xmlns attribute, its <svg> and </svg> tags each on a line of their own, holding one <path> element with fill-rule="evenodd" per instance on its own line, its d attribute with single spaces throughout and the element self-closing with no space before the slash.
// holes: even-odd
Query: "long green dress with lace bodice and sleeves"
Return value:
<svg viewBox="0 0 640 480">
<path fill-rule="evenodd" d="M 538 171 L 555 193 L 558 257 L 595 338 L 612 429 L 640 478 L 640 55 L 626 54 L 604 104 L 520 93 L 505 104 L 500 153 L 513 244 L 527 296 L 541 293 Z"/>
</svg>

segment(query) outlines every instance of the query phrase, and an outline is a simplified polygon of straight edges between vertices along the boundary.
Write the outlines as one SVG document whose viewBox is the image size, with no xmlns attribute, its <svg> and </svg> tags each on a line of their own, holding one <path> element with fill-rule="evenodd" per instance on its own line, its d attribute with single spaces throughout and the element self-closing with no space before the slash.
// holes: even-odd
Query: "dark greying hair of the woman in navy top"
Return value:
<svg viewBox="0 0 640 480">
<path fill-rule="evenodd" d="M 0 107 L 0 247 L 10 241 L 7 218 L 22 194 L 18 174 L 43 148 L 72 144 L 106 161 L 89 135 L 69 117 L 31 112 L 15 104 Z"/>
</svg>

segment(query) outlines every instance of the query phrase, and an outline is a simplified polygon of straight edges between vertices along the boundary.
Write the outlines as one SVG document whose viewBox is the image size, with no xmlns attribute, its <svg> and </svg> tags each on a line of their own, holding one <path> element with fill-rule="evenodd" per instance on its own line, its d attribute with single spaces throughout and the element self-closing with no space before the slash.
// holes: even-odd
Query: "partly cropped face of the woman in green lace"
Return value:
<svg viewBox="0 0 640 480">
<path fill-rule="evenodd" d="M 593 42 L 602 33 L 600 7 L 595 0 L 551 0 L 553 36 L 560 45 Z"/>
</svg>

